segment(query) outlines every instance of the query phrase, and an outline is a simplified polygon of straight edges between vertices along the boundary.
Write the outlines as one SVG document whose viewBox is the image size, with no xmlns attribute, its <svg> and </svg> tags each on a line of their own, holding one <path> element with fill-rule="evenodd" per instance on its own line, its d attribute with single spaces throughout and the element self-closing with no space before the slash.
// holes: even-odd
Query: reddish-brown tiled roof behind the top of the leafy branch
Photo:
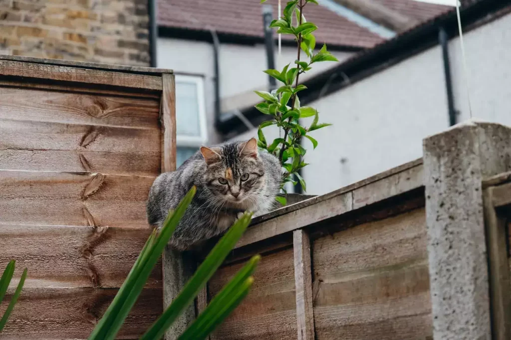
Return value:
<svg viewBox="0 0 511 340">
<path fill-rule="evenodd" d="M 272 5 L 276 17 L 277 0 L 266 4 Z M 285 4 L 282 0 L 282 5 Z M 305 16 L 318 26 L 315 33 L 318 43 L 367 48 L 384 41 L 379 35 L 320 5 L 307 5 Z M 214 28 L 218 33 L 263 38 L 262 7 L 257 0 L 159 0 L 158 25 L 196 31 Z M 289 38 L 283 35 L 283 39 Z"/>
</svg>

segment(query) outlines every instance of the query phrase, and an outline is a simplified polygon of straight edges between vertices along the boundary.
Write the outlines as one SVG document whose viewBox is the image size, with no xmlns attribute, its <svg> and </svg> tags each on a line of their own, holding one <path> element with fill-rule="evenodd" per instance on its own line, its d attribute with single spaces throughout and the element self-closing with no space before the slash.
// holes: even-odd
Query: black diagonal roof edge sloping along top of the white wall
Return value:
<svg viewBox="0 0 511 340">
<path fill-rule="evenodd" d="M 461 0 L 461 5 L 463 31 L 467 31 L 467 28 L 475 29 L 497 17 L 511 13 L 509 0 Z M 307 80 L 304 82 L 307 89 L 301 91 L 301 104 L 306 105 L 323 95 L 350 86 L 356 81 L 369 77 L 403 59 L 421 53 L 426 48 L 434 46 L 438 43 L 439 27 L 443 27 L 450 37 L 458 34 L 455 9 L 450 8 L 438 16 L 431 17 L 420 25 L 373 48 L 364 50 Z M 349 81 L 346 81 L 346 79 Z M 328 86 L 325 86 L 326 84 Z M 241 109 L 241 113 L 254 125 L 258 125 L 267 118 L 253 106 Z M 241 133 L 246 130 L 246 126 L 242 124 L 238 117 L 234 116 L 223 120 L 218 129 L 224 134 Z"/>
</svg>

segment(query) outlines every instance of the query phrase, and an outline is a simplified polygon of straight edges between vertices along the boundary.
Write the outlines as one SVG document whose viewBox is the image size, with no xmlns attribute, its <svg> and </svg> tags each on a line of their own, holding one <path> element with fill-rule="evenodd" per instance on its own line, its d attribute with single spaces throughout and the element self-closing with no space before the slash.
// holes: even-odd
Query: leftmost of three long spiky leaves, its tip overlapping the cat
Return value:
<svg viewBox="0 0 511 340">
<path fill-rule="evenodd" d="M 128 277 L 103 314 L 103 318 L 101 318 L 94 331 L 90 334 L 89 340 L 113 340 L 115 338 L 138 295 L 142 292 L 154 265 L 168 244 L 179 220 L 192 202 L 196 191 L 196 187 L 193 186 L 177 205 L 176 209 L 169 212 L 160 232 L 157 233 L 155 229 L 151 233 L 146 245 L 131 268 Z"/>
</svg>

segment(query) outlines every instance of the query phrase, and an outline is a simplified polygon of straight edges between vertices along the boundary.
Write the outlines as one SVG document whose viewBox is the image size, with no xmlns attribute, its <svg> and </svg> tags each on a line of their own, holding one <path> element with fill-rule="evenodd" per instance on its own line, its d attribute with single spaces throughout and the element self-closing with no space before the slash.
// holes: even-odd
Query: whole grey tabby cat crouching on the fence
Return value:
<svg viewBox="0 0 511 340">
<path fill-rule="evenodd" d="M 169 209 L 195 185 L 195 197 L 170 240 L 174 249 L 189 250 L 225 232 L 244 211 L 254 216 L 271 211 L 281 180 L 280 162 L 259 151 L 255 138 L 201 147 L 176 171 L 155 179 L 147 200 L 148 222 L 161 228 Z"/>
</svg>

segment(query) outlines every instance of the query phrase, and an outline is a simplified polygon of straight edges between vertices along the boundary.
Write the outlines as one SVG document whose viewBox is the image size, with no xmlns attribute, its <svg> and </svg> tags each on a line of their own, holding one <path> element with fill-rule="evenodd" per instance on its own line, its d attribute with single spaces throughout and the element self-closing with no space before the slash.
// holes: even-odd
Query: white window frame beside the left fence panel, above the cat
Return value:
<svg viewBox="0 0 511 340">
<path fill-rule="evenodd" d="M 201 145 L 207 142 L 207 116 L 206 116 L 206 107 L 204 100 L 204 78 L 201 76 L 184 76 L 184 75 L 175 75 L 176 88 L 178 86 L 178 82 L 187 82 L 187 83 L 195 83 L 197 86 L 197 100 L 198 100 L 198 108 L 199 108 L 199 130 L 200 136 L 183 136 L 176 134 L 176 144 L 177 147 L 200 147 Z M 176 98 L 176 101 L 178 98 Z M 176 114 L 177 115 L 177 114 Z M 176 124 L 179 122 L 176 121 Z"/>
</svg>

